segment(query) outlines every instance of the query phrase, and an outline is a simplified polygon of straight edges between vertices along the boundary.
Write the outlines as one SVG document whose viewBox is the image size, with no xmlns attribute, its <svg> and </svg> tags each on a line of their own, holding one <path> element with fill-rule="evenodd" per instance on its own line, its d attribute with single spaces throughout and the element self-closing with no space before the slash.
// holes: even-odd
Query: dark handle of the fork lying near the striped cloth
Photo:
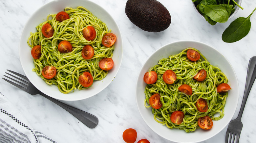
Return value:
<svg viewBox="0 0 256 143">
<path fill-rule="evenodd" d="M 84 112 L 82 110 L 79 110 L 75 107 L 69 106 L 65 103 L 62 103 L 50 96 L 47 96 L 44 93 L 40 93 L 40 95 L 42 95 L 43 97 L 49 99 L 50 101 L 52 101 L 53 103 L 56 103 L 57 105 L 59 105 L 60 107 L 62 107 L 63 109 L 65 109 L 66 111 L 68 111 L 70 114 L 72 114 L 73 116 L 75 116 L 75 118 L 77 118 L 78 120 L 80 120 L 83 124 L 85 124 L 86 126 L 88 126 L 89 128 L 95 128 L 99 122 L 98 118 L 90 113 Z"/>
</svg>

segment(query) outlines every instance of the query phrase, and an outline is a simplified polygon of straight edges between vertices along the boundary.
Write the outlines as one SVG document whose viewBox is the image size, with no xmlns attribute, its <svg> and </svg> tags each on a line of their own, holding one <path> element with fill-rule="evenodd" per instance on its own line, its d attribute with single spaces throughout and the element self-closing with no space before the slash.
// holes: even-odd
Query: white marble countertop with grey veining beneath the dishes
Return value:
<svg viewBox="0 0 256 143">
<path fill-rule="evenodd" d="M 38 8 L 52 0 L 0 0 L 0 76 L 6 69 L 24 74 L 19 61 L 19 39 L 28 18 Z M 233 66 L 239 82 L 238 115 L 245 89 L 245 78 L 250 57 L 256 56 L 256 13 L 248 35 L 235 43 L 221 39 L 224 29 L 236 18 L 247 17 L 256 7 L 255 0 L 243 0 L 242 7 L 228 22 L 212 26 L 203 20 L 192 6 L 191 0 L 159 0 L 170 12 L 171 25 L 159 33 L 150 33 L 132 24 L 125 14 L 127 0 L 93 0 L 109 11 L 116 20 L 123 36 L 124 55 L 121 68 L 113 82 L 97 95 L 65 103 L 98 117 L 96 128 L 90 129 L 71 114 L 40 95 L 30 94 L 0 79 L 0 92 L 27 118 L 32 127 L 59 143 L 93 143 L 97 141 L 124 143 L 122 133 L 127 128 L 137 130 L 137 142 L 147 138 L 152 143 L 170 141 L 154 133 L 141 118 L 135 101 L 137 75 L 146 59 L 161 46 L 178 40 L 197 40 L 215 47 Z M 123 84 L 125 82 L 125 85 Z M 120 84 L 122 83 L 122 84 Z M 242 117 L 244 124 L 240 142 L 255 142 L 256 136 L 256 84 L 249 94 Z M 224 142 L 227 127 L 219 134 L 204 141 Z"/>
</svg>

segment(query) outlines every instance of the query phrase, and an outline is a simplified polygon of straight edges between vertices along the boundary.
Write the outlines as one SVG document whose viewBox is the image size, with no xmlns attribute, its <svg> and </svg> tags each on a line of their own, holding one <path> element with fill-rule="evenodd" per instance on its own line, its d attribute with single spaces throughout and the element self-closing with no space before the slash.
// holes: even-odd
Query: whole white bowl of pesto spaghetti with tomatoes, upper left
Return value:
<svg viewBox="0 0 256 143">
<path fill-rule="evenodd" d="M 57 18 L 61 11 L 65 11 L 68 18 L 63 13 Z M 52 35 L 51 30 L 44 27 L 46 24 L 52 27 Z M 102 40 L 108 33 L 116 36 L 114 45 Z M 62 41 L 68 41 L 72 47 L 65 47 L 69 45 L 67 42 L 60 44 Z M 40 49 L 32 50 L 37 45 Z M 90 48 L 84 49 L 87 45 Z M 93 57 L 90 52 L 94 52 Z M 96 95 L 114 80 L 122 62 L 123 41 L 115 20 L 96 3 L 55 0 L 39 8 L 25 24 L 19 56 L 26 76 L 37 89 L 58 100 L 77 101 Z M 99 67 L 103 58 L 108 60 Z M 110 58 L 114 65 L 112 62 L 102 69 L 104 63 L 111 62 Z M 44 69 L 46 66 L 55 67 L 55 76 Z M 80 79 L 80 75 L 84 76 Z"/>
</svg>

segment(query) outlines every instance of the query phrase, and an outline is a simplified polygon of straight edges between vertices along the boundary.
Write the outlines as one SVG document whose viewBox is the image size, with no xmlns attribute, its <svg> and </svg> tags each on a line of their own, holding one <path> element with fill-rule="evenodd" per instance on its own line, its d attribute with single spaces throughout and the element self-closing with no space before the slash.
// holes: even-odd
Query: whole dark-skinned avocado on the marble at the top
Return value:
<svg viewBox="0 0 256 143">
<path fill-rule="evenodd" d="M 128 0 L 125 13 L 130 21 L 148 32 L 160 32 L 171 24 L 169 11 L 156 0 Z"/>
</svg>

